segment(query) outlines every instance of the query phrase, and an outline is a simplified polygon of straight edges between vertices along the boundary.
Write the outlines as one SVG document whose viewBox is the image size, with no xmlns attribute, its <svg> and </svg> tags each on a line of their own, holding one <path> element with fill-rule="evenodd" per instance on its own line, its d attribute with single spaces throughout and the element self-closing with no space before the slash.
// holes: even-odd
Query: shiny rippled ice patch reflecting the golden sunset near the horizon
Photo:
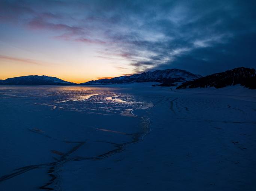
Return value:
<svg viewBox="0 0 256 191">
<path fill-rule="evenodd" d="M 152 107 L 134 95 L 121 93 L 117 88 L 104 87 L 10 87 L 2 88 L 4 98 L 34 98 L 35 104 L 51 106 L 50 109 L 64 109 L 80 113 L 101 115 L 122 114 L 135 116 L 134 109 Z M 0 95 L 0 98 L 1 98 Z"/>
</svg>

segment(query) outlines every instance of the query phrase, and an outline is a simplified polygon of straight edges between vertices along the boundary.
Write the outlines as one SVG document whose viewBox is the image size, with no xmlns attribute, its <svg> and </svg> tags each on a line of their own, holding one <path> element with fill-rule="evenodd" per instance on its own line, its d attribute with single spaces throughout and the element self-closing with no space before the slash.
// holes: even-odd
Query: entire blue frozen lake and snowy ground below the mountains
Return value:
<svg viewBox="0 0 256 191">
<path fill-rule="evenodd" d="M 255 190 L 256 90 L 130 86 L 0 87 L 0 190 Z"/>
</svg>

